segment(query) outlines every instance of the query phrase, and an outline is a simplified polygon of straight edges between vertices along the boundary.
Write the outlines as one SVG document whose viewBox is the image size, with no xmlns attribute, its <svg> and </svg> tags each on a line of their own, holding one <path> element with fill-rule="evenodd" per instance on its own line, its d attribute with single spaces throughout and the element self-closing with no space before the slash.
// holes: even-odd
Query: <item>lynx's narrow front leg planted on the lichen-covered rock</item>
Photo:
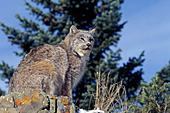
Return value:
<svg viewBox="0 0 170 113">
<path fill-rule="evenodd" d="M 71 75 L 66 75 L 65 84 L 62 87 L 62 95 L 72 99 Z"/>
</svg>

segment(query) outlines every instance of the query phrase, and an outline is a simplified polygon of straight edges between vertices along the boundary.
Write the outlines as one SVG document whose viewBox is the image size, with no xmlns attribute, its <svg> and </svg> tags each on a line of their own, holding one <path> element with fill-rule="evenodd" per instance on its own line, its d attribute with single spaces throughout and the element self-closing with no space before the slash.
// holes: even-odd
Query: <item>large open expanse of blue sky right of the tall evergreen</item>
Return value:
<svg viewBox="0 0 170 113">
<path fill-rule="evenodd" d="M 125 0 L 119 47 L 123 62 L 145 50 L 144 80 L 156 75 L 170 60 L 170 0 Z"/>
</svg>

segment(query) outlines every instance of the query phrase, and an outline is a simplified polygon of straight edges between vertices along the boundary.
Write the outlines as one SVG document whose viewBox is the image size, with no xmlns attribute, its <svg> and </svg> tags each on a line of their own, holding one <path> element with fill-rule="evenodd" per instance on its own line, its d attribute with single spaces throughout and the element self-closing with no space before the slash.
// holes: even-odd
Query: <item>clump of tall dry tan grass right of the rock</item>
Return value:
<svg viewBox="0 0 170 113">
<path fill-rule="evenodd" d="M 93 94 L 95 98 L 95 108 L 99 108 L 105 112 L 127 112 L 126 90 L 119 83 L 110 83 L 110 74 L 100 73 L 96 74 L 96 93 Z M 122 101 L 122 98 L 124 101 Z"/>
</svg>

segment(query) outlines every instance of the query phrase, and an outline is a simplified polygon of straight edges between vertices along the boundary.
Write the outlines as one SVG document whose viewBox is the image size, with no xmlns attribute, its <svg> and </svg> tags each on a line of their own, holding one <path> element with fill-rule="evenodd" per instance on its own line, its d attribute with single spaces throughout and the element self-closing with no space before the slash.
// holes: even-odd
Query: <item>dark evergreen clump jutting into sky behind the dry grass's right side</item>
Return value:
<svg viewBox="0 0 170 113">
<path fill-rule="evenodd" d="M 142 80 L 141 74 L 143 73 L 142 69 L 134 71 L 136 67 L 141 66 L 140 62 L 144 62 L 142 57 L 144 56 L 144 51 L 141 53 L 139 58 L 133 57 L 129 58 L 129 61 L 119 68 L 118 78 L 123 80 L 123 85 L 126 87 L 127 97 L 130 99 L 135 96 L 135 91 L 140 87 L 140 83 Z"/>
</svg>

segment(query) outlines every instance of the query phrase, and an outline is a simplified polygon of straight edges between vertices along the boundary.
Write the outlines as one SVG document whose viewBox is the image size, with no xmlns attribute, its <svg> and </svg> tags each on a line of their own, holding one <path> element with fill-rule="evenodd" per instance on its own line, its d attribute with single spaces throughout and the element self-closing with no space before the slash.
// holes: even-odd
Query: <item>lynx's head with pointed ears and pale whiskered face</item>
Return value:
<svg viewBox="0 0 170 113">
<path fill-rule="evenodd" d="M 73 54 L 79 55 L 80 57 L 85 56 L 86 59 L 89 58 L 89 54 L 94 45 L 94 31 L 95 29 L 84 31 L 77 29 L 74 25 L 71 26 L 67 38 Z"/>
</svg>

